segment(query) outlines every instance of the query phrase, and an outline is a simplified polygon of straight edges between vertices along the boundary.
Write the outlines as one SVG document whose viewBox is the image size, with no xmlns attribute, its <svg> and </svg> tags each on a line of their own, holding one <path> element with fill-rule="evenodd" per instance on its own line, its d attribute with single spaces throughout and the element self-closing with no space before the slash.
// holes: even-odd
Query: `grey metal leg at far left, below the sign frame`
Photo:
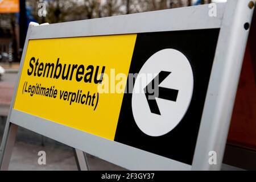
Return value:
<svg viewBox="0 0 256 182">
<path fill-rule="evenodd" d="M 0 150 L 1 171 L 7 171 L 9 169 L 11 153 L 13 152 L 17 130 L 18 125 L 15 125 L 10 121 L 6 122 L 5 132 L 3 133 L 3 139 Z"/>
</svg>

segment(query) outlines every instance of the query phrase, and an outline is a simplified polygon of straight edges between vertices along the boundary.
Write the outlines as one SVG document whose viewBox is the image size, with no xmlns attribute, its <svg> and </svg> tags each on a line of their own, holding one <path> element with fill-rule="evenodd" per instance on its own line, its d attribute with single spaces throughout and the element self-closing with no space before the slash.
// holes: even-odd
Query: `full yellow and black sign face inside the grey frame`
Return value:
<svg viewBox="0 0 256 182">
<path fill-rule="evenodd" d="M 14 109 L 192 164 L 218 33 L 209 29 L 30 40 Z M 191 51 L 193 46 L 203 53 Z M 134 86 L 129 76 L 135 74 Z M 152 89 L 156 98 L 150 98 L 150 84 L 157 80 Z M 191 137 L 183 137 L 182 131 Z M 175 141 L 175 150 L 166 148 L 177 137 L 191 143 L 184 146 L 184 156 L 185 148 Z"/>
</svg>

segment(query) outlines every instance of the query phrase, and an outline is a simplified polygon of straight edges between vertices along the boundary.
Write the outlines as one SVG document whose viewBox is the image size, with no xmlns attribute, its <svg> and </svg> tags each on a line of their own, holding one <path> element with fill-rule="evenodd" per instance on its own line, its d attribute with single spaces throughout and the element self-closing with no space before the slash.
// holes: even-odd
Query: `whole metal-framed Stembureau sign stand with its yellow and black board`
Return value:
<svg viewBox="0 0 256 182">
<path fill-rule="evenodd" d="M 233 0 L 31 24 L 1 169 L 22 126 L 80 150 L 80 169 L 88 169 L 84 151 L 127 169 L 219 170 L 253 12 L 253 1 Z M 100 92 L 112 73 L 125 75 L 131 92 Z"/>
</svg>

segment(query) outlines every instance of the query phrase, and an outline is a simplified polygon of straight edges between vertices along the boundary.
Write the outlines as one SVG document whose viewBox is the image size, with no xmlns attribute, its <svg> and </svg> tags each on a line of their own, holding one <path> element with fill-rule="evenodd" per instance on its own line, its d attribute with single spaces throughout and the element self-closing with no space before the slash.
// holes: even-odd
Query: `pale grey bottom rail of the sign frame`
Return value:
<svg viewBox="0 0 256 182">
<path fill-rule="evenodd" d="M 61 143 L 131 170 L 190 170 L 191 166 L 13 109 L 10 120 Z M 30 122 L 28 122 L 30 121 Z"/>
</svg>

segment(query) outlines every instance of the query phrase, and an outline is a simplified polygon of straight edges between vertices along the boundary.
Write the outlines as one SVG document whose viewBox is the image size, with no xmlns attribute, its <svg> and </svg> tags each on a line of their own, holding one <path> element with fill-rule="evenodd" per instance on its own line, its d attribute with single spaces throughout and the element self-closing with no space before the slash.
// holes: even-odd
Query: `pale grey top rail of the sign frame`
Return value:
<svg viewBox="0 0 256 182">
<path fill-rule="evenodd" d="M 201 5 L 37 26 L 31 28 L 29 39 L 220 28 L 225 5 L 217 4 L 216 17 L 209 16 L 208 5 Z"/>
</svg>

